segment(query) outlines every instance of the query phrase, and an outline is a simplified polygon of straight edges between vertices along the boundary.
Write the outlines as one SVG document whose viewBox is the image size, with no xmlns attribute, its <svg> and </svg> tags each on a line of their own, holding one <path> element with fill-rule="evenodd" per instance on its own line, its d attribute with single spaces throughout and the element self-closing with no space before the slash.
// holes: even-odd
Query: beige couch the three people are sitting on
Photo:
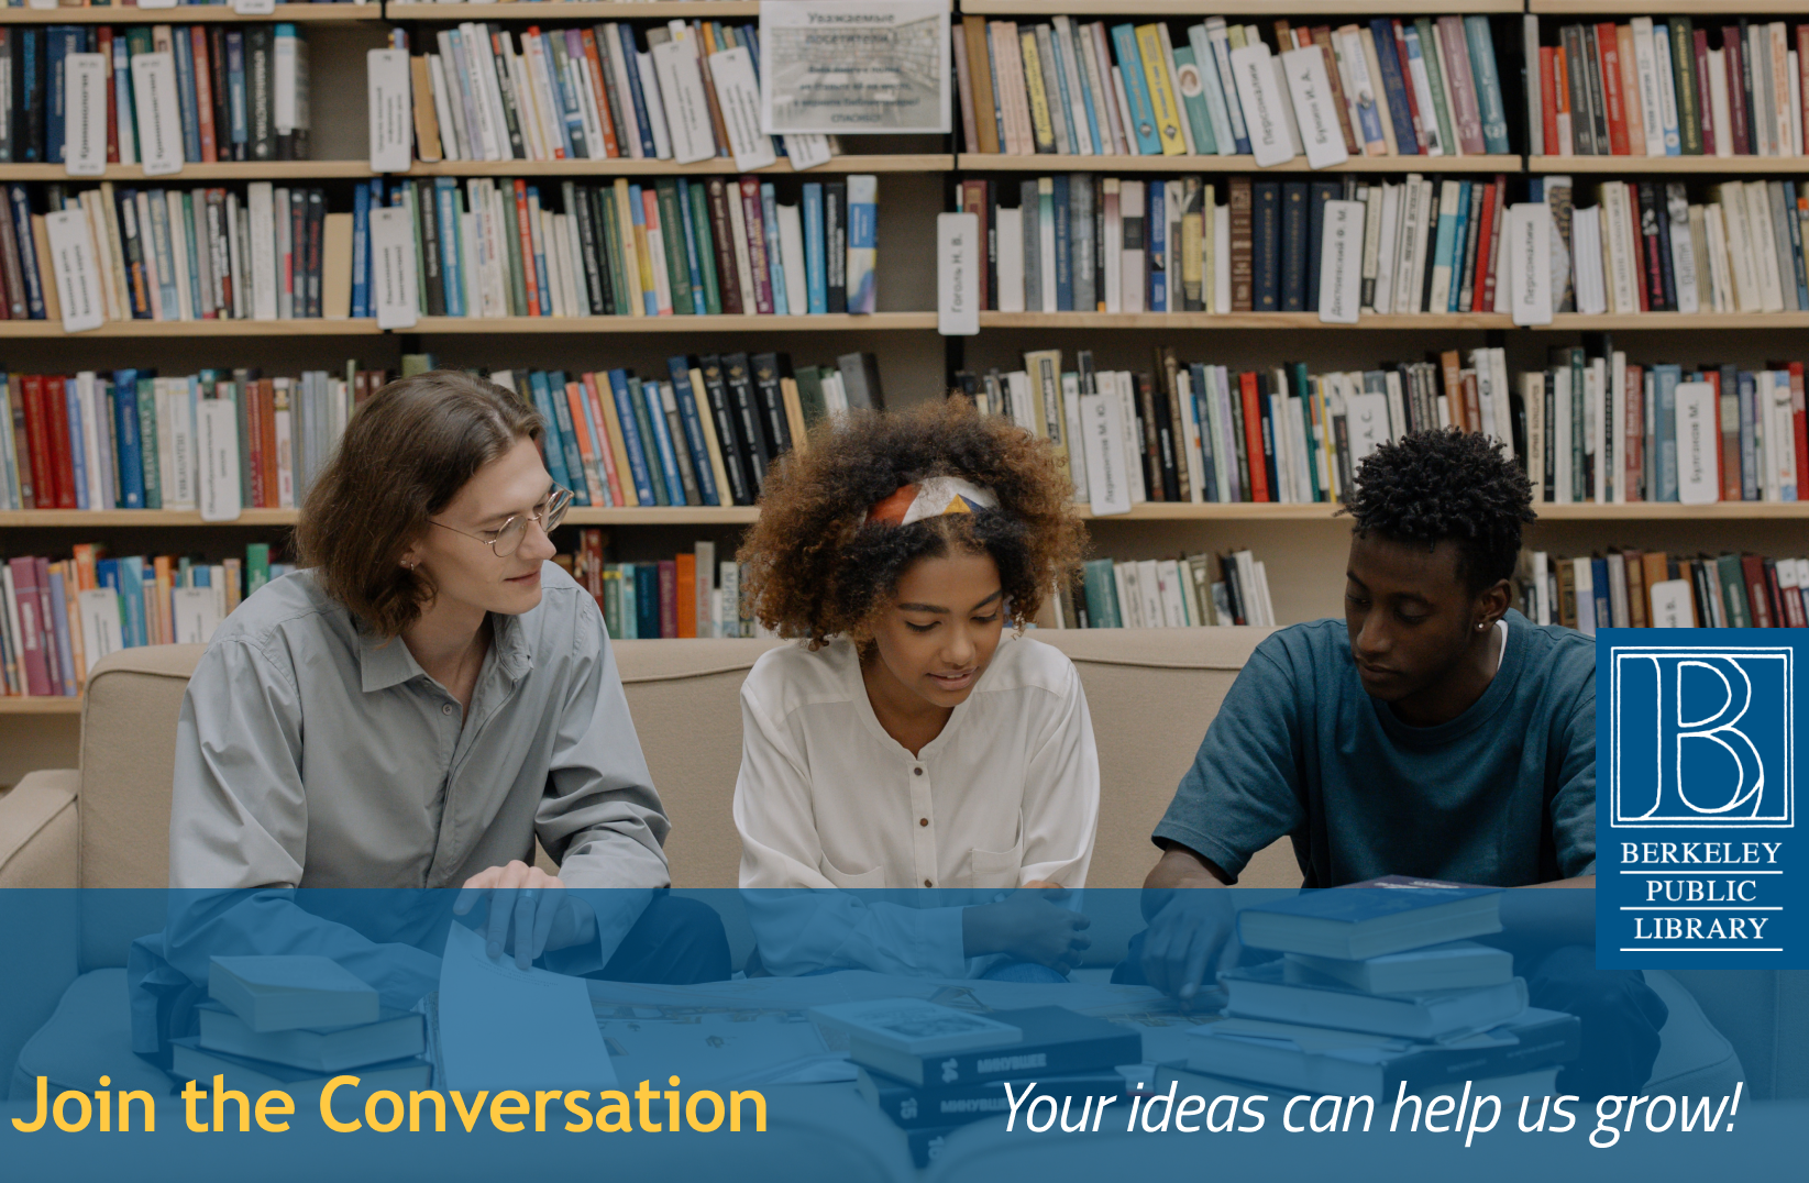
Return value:
<svg viewBox="0 0 1809 1183">
<path fill-rule="evenodd" d="M 1194 756 L 1252 648 L 1268 629 L 1098 629 L 1044 631 L 1080 669 L 1100 749 L 1100 832 L 1089 886 L 1138 886 L 1154 859 L 1149 832 L 1169 803 L 1174 785 Z M 767 640 L 640 640 L 617 642 L 617 660 L 648 765 L 673 819 L 668 841 L 673 883 L 678 888 L 734 886 L 740 841 L 729 798 L 740 762 L 740 684 L 753 662 L 776 642 Z M 0 888 L 4 886 L 165 886 L 168 879 L 168 816 L 175 718 L 186 678 L 199 658 L 197 646 L 127 649 L 109 657 L 89 680 L 83 713 L 81 769 L 27 776 L 0 798 Z M 1248 886 L 1299 886 L 1301 874 L 1288 843 L 1257 856 L 1246 870 Z M 11 1065 L 25 1040 L 58 1013 L 51 1027 L 92 1017 L 123 991 L 123 953 L 130 937 L 150 932 L 161 917 L 101 923 L 81 901 L 56 897 L 67 917 L 38 917 L 34 933 L 45 944 L 52 973 L 34 979 L 0 1011 L 0 1069 Z M 1111 913 L 1096 915 L 1094 957 L 1107 964 L 1122 955 L 1138 928 L 1134 895 L 1102 897 Z M 1089 912 L 1093 908 L 1089 906 Z M 109 913 L 118 912 L 110 908 Z M 1122 913 L 1122 915 L 1118 915 Z M 725 917 L 736 955 L 749 944 L 745 924 Z M 27 933 L 0 932 L 0 941 Z M 36 942 L 36 941 L 34 941 Z M 9 944 L 7 948 L 20 948 Z M 1804 982 L 1776 975 L 1737 975 L 1738 986 L 1697 975 L 1695 993 L 1724 1029 L 1746 1038 L 1735 1049 L 1702 1022 L 1697 1002 L 1675 982 L 1666 1000 L 1679 1022 L 1700 1027 L 1700 1038 L 1672 1040 L 1666 1031 L 1666 1067 L 1659 1074 L 1729 1078 L 1740 1062 L 1758 1067 L 1775 1087 L 1809 1093 L 1805 1067 L 1780 1065 L 1775 1056 L 1780 1024 L 1800 1009 Z M 1733 979 L 1735 975 L 1719 975 Z M 1784 993 L 1780 993 L 1784 991 Z M 90 1009 L 92 1008 L 92 1009 Z M 1693 1017 L 1693 1018 L 1691 1018 Z M 123 1013 L 121 1013 L 123 1020 Z M 103 1029 L 87 1018 L 81 1047 L 51 1040 L 51 1029 L 33 1040 L 18 1071 L 67 1078 L 71 1087 L 92 1078 L 101 1064 L 119 1071 L 123 1024 Z M 80 1024 L 76 1024 L 80 1026 Z M 1675 1046 L 1675 1047 L 1673 1047 Z M 27 1064 L 25 1060 L 33 1060 Z M 127 1056 L 130 1060 L 130 1056 Z M 147 1069 L 150 1071 L 150 1069 Z M 87 1073 L 87 1076 L 83 1076 Z M 1704 1076 L 1706 1074 L 1706 1076 Z M 1731 1080 L 1731 1078 L 1729 1078 Z M 14 1084 L 18 1076 L 14 1076 Z M 1762 1085 L 1753 1080 L 1753 1089 Z"/>
</svg>

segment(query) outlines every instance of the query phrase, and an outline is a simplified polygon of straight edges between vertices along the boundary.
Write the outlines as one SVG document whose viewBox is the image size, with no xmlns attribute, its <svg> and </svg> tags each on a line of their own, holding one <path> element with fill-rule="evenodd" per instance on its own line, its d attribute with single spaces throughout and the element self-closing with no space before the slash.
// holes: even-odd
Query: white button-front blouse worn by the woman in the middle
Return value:
<svg viewBox="0 0 1809 1183">
<path fill-rule="evenodd" d="M 997 890 L 1031 879 L 1078 888 L 1098 809 L 1080 675 L 1029 637 L 1000 640 L 917 756 L 874 716 L 852 642 L 772 649 L 742 686 L 743 888 Z M 780 923 L 751 899 L 762 959 L 776 973 L 861 964 L 966 977 L 975 966 L 961 957 L 961 908 L 937 903 L 928 892 L 910 894 L 908 906 L 839 897 L 818 904 L 838 912 L 836 923 Z"/>
</svg>

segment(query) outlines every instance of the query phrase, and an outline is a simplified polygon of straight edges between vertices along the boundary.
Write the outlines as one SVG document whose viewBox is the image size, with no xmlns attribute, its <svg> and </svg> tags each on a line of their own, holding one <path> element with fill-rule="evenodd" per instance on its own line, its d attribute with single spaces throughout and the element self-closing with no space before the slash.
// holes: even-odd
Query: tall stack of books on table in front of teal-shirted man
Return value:
<svg viewBox="0 0 1809 1183">
<path fill-rule="evenodd" d="M 1378 1100 L 1463 1082 L 1550 1093 L 1581 1024 L 1529 1008 L 1514 959 L 1469 941 L 1501 930 L 1500 892 L 1397 875 L 1353 886 L 1239 913 L 1245 946 L 1284 957 L 1219 975 L 1225 1018 L 1189 1033 L 1183 1082 Z"/>
</svg>

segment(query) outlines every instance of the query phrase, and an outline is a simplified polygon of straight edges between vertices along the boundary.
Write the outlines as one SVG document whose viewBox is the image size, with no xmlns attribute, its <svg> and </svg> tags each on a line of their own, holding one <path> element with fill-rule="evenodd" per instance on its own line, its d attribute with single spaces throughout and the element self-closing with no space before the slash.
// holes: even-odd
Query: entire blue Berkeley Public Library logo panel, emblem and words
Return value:
<svg viewBox="0 0 1809 1183">
<path fill-rule="evenodd" d="M 1596 962 L 1809 968 L 1809 633 L 1596 633 Z"/>
</svg>

